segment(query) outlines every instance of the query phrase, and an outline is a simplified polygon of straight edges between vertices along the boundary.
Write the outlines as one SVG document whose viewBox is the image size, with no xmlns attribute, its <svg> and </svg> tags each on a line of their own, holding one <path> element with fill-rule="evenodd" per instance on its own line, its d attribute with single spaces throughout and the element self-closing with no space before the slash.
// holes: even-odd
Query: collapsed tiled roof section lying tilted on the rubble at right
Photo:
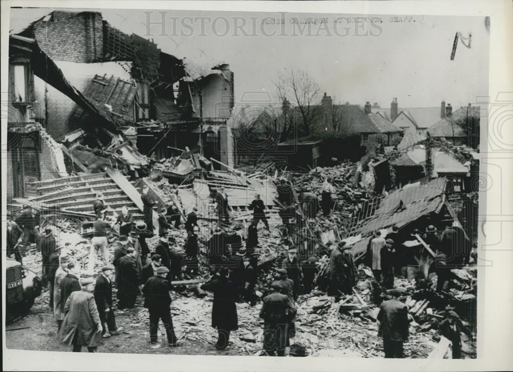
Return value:
<svg viewBox="0 0 513 372">
<path fill-rule="evenodd" d="M 401 228 L 437 211 L 444 203 L 446 182 L 447 179 L 442 177 L 424 185 L 410 186 L 390 193 L 381 201 L 374 216 L 364 222 L 359 233 L 367 235 L 393 225 Z"/>
</svg>

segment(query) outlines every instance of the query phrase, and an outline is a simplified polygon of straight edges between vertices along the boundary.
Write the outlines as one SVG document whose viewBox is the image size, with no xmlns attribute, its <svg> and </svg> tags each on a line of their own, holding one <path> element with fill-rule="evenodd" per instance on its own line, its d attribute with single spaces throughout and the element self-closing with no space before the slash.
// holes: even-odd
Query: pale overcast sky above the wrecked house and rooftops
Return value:
<svg viewBox="0 0 513 372">
<path fill-rule="evenodd" d="M 12 9 L 11 19 L 45 11 Z M 143 10 L 98 11 L 112 26 L 152 37 L 162 51 L 176 57 L 209 67 L 229 63 L 236 104 L 256 96 L 245 92 L 263 93 L 258 100 L 276 100 L 272 82 L 290 68 L 308 70 L 337 103 L 370 101 L 389 107 L 392 97 L 398 97 L 404 108 L 438 107 L 441 100 L 459 107 L 488 94 L 489 31 L 484 16 L 376 15 L 377 23 L 364 19 L 355 26 L 352 17 L 368 15 L 165 11 L 163 28 L 161 14 L 154 11 L 149 36 Z M 283 18 L 285 27 L 269 24 L 268 17 Z M 318 18 L 309 29 L 304 23 L 308 17 Z M 323 24 L 319 18 L 326 18 Z M 352 18 L 350 23 L 347 18 Z M 471 48 L 459 42 L 450 61 L 458 31 L 465 37 L 472 33 Z"/>
</svg>

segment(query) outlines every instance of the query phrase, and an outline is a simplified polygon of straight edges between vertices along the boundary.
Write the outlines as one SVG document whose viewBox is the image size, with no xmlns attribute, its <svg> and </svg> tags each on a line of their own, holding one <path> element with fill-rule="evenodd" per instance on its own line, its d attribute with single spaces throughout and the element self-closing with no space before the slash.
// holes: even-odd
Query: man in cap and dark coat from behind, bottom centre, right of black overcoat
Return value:
<svg viewBox="0 0 513 372">
<path fill-rule="evenodd" d="M 288 326 L 295 316 L 295 306 L 287 295 L 280 293 L 280 283 L 271 284 L 273 292 L 262 300 L 260 318 L 264 319 L 264 350 L 269 356 L 285 356 Z"/>
</svg>

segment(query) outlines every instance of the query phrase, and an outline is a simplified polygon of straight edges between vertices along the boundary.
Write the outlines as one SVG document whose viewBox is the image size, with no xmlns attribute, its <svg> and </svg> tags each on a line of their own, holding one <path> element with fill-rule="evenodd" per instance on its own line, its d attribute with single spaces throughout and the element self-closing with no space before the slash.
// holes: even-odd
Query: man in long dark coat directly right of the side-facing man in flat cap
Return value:
<svg viewBox="0 0 513 372">
<path fill-rule="evenodd" d="M 135 249 L 128 247 L 127 254 L 119 262 L 120 283 L 117 291 L 119 309 L 133 308 L 139 294 L 140 277 L 135 257 Z"/>
</svg>

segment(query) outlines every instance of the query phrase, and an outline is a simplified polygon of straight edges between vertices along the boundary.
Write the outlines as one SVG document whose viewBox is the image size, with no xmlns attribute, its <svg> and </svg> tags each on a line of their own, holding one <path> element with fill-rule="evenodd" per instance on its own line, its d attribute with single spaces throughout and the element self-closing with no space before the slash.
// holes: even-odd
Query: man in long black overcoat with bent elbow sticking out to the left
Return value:
<svg viewBox="0 0 513 372">
<path fill-rule="evenodd" d="M 214 293 L 212 303 L 212 328 L 218 330 L 218 341 L 215 348 L 224 350 L 228 346 L 230 332 L 239 328 L 237 307 L 239 288 L 228 279 L 228 269 L 222 267 L 219 276 L 214 277 L 200 286 L 203 290 Z"/>
</svg>

